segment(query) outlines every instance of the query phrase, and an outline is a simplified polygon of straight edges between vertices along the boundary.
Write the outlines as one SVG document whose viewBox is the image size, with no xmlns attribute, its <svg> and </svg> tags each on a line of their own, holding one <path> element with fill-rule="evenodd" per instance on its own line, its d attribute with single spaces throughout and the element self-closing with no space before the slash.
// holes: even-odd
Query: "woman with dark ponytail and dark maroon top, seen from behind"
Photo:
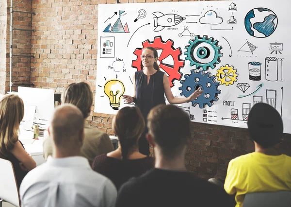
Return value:
<svg viewBox="0 0 291 207">
<path fill-rule="evenodd" d="M 124 107 L 113 119 L 113 132 L 120 145 L 115 151 L 99 155 L 92 168 L 112 180 L 117 190 L 129 180 L 154 167 L 154 159 L 139 153 L 138 139 L 141 137 L 145 121 L 139 108 Z"/>
</svg>

